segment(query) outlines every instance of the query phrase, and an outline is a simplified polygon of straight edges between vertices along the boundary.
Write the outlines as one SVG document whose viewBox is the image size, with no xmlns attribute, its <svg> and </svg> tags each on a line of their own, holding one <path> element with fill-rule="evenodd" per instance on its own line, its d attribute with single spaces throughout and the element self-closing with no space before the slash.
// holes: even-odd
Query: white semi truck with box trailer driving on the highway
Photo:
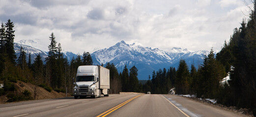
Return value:
<svg viewBox="0 0 256 117">
<path fill-rule="evenodd" d="M 92 98 L 109 96 L 110 70 L 100 65 L 83 65 L 77 69 L 76 78 L 73 78 L 75 87 L 74 98 Z"/>
</svg>

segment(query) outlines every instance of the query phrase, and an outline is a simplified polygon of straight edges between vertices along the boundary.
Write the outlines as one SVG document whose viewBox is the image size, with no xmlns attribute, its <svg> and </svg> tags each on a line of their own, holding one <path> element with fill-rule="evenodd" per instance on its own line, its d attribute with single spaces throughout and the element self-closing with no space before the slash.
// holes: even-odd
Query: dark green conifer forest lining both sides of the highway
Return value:
<svg viewBox="0 0 256 117">
<path fill-rule="evenodd" d="M 198 69 L 193 64 L 188 66 L 181 59 L 177 68 L 170 66 L 169 69 L 153 71 L 148 80 L 141 84 L 136 66 L 128 69 L 125 65 L 123 71 L 118 73 L 113 63 L 102 64 L 110 69 L 111 93 L 150 91 L 152 94 L 168 94 L 175 87 L 176 94 L 214 98 L 217 103 L 226 106 L 250 109 L 256 116 L 256 1 L 254 5 L 249 19 L 242 20 L 241 26 L 233 30 L 220 52 L 215 55 L 211 49 Z M 49 92 L 65 92 L 67 88 L 68 93 L 72 94 L 72 78 L 76 76 L 78 66 L 93 64 L 90 54 L 84 52 L 68 62 L 52 33 L 48 38 L 51 43 L 45 60 L 40 55 L 35 59 L 31 59 L 30 54 L 26 57 L 23 48 L 16 57 L 13 27 L 11 20 L 1 23 L 0 27 L 0 83 L 4 83 L 0 96 L 6 95 L 10 101 L 19 100 L 14 98 L 17 89 L 12 84 L 17 80 L 33 83 Z M 223 83 L 223 78 L 228 75 L 230 80 Z M 27 97 L 28 94 L 28 91 L 24 91 L 19 95 L 23 99 L 31 99 Z M 35 98 L 36 88 L 34 94 Z"/>
</svg>

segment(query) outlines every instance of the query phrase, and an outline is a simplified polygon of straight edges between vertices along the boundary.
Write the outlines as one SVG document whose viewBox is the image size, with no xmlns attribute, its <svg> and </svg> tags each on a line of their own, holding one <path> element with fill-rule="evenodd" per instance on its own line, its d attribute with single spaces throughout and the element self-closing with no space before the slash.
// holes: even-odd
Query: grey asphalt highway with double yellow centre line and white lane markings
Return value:
<svg viewBox="0 0 256 117">
<path fill-rule="evenodd" d="M 245 117 L 174 95 L 121 94 L 0 105 L 0 117 Z"/>
</svg>

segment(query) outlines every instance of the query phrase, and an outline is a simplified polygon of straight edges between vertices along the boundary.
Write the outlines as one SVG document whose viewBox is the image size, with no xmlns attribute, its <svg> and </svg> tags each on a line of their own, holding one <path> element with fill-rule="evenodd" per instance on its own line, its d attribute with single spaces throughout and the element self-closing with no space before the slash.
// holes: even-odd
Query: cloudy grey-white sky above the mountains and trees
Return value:
<svg viewBox="0 0 256 117">
<path fill-rule="evenodd" d="M 250 13 L 251 0 L 0 0 L 15 42 L 53 32 L 64 51 L 90 53 L 124 40 L 144 47 L 220 50 Z"/>
</svg>

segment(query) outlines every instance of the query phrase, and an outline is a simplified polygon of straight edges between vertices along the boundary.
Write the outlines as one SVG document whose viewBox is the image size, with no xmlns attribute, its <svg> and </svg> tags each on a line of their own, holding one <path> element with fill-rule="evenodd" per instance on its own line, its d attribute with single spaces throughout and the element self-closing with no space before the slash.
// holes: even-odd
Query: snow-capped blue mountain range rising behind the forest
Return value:
<svg viewBox="0 0 256 117">
<path fill-rule="evenodd" d="M 21 40 L 14 43 L 17 57 L 20 55 L 19 49 L 21 46 L 27 53 L 27 58 L 28 54 L 31 53 L 32 62 L 39 53 L 43 60 L 47 57 L 46 48 L 42 48 L 36 40 Z M 77 54 L 72 52 L 63 53 L 69 61 L 72 57 L 77 57 Z M 194 52 L 175 47 L 169 51 L 163 51 L 158 48 L 142 47 L 138 43 L 127 44 L 125 41 L 120 41 L 114 46 L 93 52 L 91 57 L 94 65 L 106 64 L 107 62 L 114 63 L 118 72 L 122 72 L 125 65 L 128 69 L 135 65 L 138 69 L 138 78 L 145 80 L 148 79 L 149 75 L 152 75 L 154 70 L 169 69 L 171 66 L 177 69 L 180 59 L 184 59 L 188 67 L 194 64 L 198 68 L 202 64 L 205 55 L 208 54 L 208 51 Z"/>
</svg>

